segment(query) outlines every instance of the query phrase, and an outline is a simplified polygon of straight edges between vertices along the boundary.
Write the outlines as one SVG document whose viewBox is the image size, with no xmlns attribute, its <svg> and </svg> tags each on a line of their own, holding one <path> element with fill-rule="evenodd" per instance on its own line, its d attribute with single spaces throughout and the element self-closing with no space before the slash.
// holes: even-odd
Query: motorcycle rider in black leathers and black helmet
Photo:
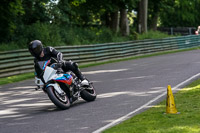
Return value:
<svg viewBox="0 0 200 133">
<path fill-rule="evenodd" d="M 63 55 L 61 52 L 57 51 L 53 47 L 43 47 L 43 44 L 40 40 L 34 40 L 29 43 L 28 45 L 29 52 L 32 56 L 35 57 L 34 59 L 34 67 L 36 68 L 37 61 L 46 61 L 49 60 L 51 57 L 57 59 L 58 65 L 62 68 L 63 71 L 72 71 L 76 76 L 81 80 L 81 85 L 89 85 L 88 81 L 84 78 L 82 73 L 80 72 L 77 63 L 72 61 L 65 61 L 63 60 Z M 37 75 L 37 73 L 36 73 Z M 40 75 L 37 75 L 41 78 Z M 43 81 L 44 82 L 44 81 Z"/>
</svg>

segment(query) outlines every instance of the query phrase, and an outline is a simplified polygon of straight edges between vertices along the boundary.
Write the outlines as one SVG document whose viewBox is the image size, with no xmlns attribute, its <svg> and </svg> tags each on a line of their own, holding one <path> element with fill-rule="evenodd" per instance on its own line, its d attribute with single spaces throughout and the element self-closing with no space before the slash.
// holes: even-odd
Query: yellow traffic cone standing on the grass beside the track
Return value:
<svg viewBox="0 0 200 133">
<path fill-rule="evenodd" d="M 174 102 L 174 96 L 173 96 L 170 85 L 168 85 L 168 87 L 167 87 L 166 113 L 167 114 L 178 114 L 179 113 L 176 109 L 176 105 Z"/>
</svg>

